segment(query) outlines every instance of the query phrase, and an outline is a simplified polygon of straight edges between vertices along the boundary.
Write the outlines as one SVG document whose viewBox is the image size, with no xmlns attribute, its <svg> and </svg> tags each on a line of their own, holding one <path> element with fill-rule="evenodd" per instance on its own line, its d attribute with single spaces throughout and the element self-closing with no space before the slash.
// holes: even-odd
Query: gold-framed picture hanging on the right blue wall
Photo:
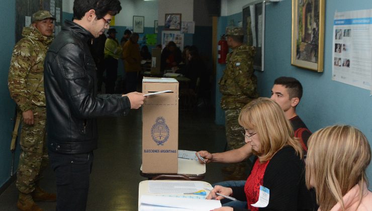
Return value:
<svg viewBox="0 0 372 211">
<path fill-rule="evenodd" d="M 325 0 L 292 0 L 291 64 L 323 72 Z"/>
</svg>

